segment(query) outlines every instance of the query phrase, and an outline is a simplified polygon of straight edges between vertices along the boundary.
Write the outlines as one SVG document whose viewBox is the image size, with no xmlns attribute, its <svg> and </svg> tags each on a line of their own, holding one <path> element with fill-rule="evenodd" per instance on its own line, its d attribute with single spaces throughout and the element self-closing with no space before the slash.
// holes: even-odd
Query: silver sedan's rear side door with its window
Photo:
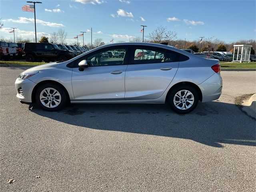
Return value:
<svg viewBox="0 0 256 192">
<path fill-rule="evenodd" d="M 178 66 L 177 52 L 153 46 L 132 46 L 125 75 L 125 100 L 159 98 L 172 82 Z"/>
</svg>

